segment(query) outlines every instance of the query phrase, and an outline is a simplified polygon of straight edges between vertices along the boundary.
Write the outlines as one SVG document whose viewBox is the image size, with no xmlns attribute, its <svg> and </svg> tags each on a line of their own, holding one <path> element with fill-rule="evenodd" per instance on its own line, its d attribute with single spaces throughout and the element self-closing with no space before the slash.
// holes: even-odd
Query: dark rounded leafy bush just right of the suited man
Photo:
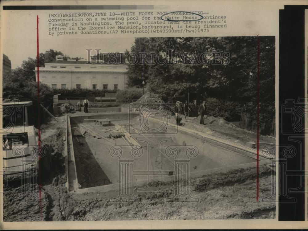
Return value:
<svg viewBox="0 0 308 231">
<path fill-rule="evenodd" d="M 219 116 L 227 121 L 236 121 L 240 119 L 241 104 L 229 100 L 219 100 L 216 98 L 207 98 L 205 101 L 206 114 Z"/>
</svg>

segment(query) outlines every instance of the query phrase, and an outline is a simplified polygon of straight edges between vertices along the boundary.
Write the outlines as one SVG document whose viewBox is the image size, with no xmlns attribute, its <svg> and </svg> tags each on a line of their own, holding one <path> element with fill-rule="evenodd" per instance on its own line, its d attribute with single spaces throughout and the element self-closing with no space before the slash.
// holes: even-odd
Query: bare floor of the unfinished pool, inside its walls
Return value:
<svg viewBox="0 0 308 231">
<path fill-rule="evenodd" d="M 95 125 L 92 121 L 84 123 L 72 120 L 72 134 L 80 131 L 80 123 L 82 123 L 105 137 L 105 139 L 98 139 L 88 133 L 84 137 L 77 136 L 77 139 L 73 136 L 80 188 L 119 183 L 120 176 L 125 171 L 120 167 L 120 163 L 123 162 L 132 163 L 134 172 L 132 179 L 137 184 L 139 181 L 155 179 L 159 173 L 176 174 L 179 172 L 177 166 L 181 163 L 185 164 L 189 172 L 197 172 L 256 162 L 256 159 L 251 156 L 230 151 L 184 133 L 174 133 L 170 130 L 165 134 L 147 134 L 141 131 L 137 120 L 135 120 L 136 123 L 129 123 L 128 119 L 115 122 L 126 131 L 133 131 L 131 135 L 141 148 L 130 147 L 123 138 L 106 138 L 110 134 L 106 130 L 112 128 L 114 124 L 102 126 Z M 119 153 L 121 153 L 120 156 L 118 156 Z"/>
</svg>

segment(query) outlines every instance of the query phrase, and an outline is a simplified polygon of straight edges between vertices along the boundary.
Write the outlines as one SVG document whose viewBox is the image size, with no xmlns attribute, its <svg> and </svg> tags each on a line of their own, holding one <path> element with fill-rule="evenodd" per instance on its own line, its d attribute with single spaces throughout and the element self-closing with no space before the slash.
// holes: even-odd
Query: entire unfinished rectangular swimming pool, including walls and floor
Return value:
<svg viewBox="0 0 308 231">
<path fill-rule="evenodd" d="M 94 119 L 109 119 L 111 123 L 95 124 Z M 255 166 L 257 162 L 253 151 L 196 134 L 185 126 L 177 127 L 174 118 L 157 120 L 138 113 L 109 112 L 71 115 L 68 120 L 70 191 L 105 191 L 107 185 L 122 184 L 123 175 L 126 182 L 140 187 L 151 180 L 176 178 L 183 172 L 185 177 L 198 176 L 210 170 Z M 123 138 L 108 139 L 108 130 L 116 124 L 141 148 L 131 146 Z M 89 132 L 80 134 L 84 127 L 103 138 Z M 267 159 L 259 157 L 259 161 Z"/>
</svg>

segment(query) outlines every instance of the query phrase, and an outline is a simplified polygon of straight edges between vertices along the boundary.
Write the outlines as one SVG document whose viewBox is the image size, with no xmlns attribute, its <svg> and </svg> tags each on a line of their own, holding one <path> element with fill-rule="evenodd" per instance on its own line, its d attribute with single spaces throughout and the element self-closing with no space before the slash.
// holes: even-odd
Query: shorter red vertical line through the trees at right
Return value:
<svg viewBox="0 0 308 231">
<path fill-rule="evenodd" d="M 257 202 L 259 201 L 260 37 L 257 38 Z"/>
</svg>

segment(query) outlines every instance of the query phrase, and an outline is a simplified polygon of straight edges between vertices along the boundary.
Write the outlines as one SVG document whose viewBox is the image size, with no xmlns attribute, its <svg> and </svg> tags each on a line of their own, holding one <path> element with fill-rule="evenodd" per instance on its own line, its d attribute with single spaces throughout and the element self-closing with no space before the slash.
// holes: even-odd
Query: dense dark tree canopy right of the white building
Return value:
<svg viewBox="0 0 308 231">
<path fill-rule="evenodd" d="M 136 38 L 134 53 L 229 53 L 226 64 L 154 64 L 129 65 L 128 84 L 148 89 L 164 99 L 184 100 L 189 95 L 198 101 L 206 97 L 240 103 L 246 111 L 256 113 L 257 54 L 260 46 L 260 113 L 274 117 L 275 38 L 274 37 L 144 37 Z M 170 52 L 169 52 L 170 54 Z M 174 57 L 174 55 L 172 56 Z M 172 58 L 171 57 L 171 58 Z M 162 59 L 170 59 L 167 55 Z M 150 57 L 148 57 L 150 59 Z"/>
</svg>

